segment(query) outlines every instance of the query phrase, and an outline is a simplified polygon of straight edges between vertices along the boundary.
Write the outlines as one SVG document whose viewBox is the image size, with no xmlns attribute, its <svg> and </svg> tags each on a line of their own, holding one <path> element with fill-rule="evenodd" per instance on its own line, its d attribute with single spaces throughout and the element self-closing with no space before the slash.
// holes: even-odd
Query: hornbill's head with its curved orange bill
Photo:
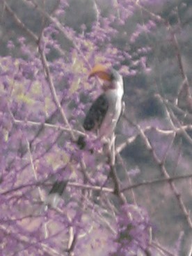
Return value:
<svg viewBox="0 0 192 256">
<path fill-rule="evenodd" d="M 99 77 L 104 81 L 102 89 L 106 90 L 123 90 L 122 76 L 112 67 L 105 67 L 102 64 L 97 64 L 90 71 L 88 78 Z"/>
</svg>

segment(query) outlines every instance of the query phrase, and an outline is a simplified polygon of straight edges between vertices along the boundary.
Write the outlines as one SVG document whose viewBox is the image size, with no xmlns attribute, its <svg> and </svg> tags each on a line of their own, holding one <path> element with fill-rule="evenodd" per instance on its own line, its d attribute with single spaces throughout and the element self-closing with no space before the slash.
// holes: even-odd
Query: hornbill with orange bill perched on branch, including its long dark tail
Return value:
<svg viewBox="0 0 192 256">
<path fill-rule="evenodd" d="M 104 81 L 102 85 L 103 93 L 90 106 L 86 118 L 83 121 L 83 128 L 86 131 L 97 131 L 97 137 L 101 141 L 110 141 L 122 112 L 122 96 L 124 94 L 122 76 L 112 67 L 97 64 L 89 73 L 88 78 L 90 79 L 91 77 L 98 77 Z M 85 147 L 86 142 L 83 136 L 79 136 L 77 144 L 80 149 Z M 65 186 L 63 186 L 62 182 L 56 182 L 53 188 L 56 189 L 51 189 L 48 195 L 52 199 L 47 201 L 49 205 L 56 207 L 58 195 L 62 195 Z M 58 194 L 56 200 L 52 193 L 55 196 Z M 52 200 L 54 203 L 51 203 Z"/>
</svg>

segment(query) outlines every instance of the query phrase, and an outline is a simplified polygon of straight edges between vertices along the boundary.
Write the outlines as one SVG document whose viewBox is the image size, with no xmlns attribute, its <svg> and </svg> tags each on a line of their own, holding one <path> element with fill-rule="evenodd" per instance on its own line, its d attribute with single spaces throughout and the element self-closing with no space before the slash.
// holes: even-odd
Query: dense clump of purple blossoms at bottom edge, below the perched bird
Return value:
<svg viewBox="0 0 192 256">
<path fill-rule="evenodd" d="M 118 235 L 115 239 L 119 256 L 137 255 L 150 247 L 151 223 L 144 209 L 136 205 L 122 205 L 117 216 Z"/>
</svg>

